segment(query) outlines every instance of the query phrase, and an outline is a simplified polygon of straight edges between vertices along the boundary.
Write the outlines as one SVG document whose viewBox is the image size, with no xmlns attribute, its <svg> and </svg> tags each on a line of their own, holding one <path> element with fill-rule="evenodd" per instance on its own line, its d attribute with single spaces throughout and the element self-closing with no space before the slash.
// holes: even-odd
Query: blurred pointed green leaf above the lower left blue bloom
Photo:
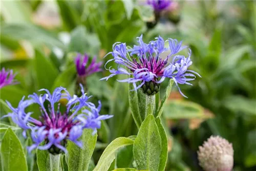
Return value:
<svg viewBox="0 0 256 171">
<path fill-rule="evenodd" d="M 46 56 L 37 50 L 35 51 L 34 60 L 34 67 L 39 89 L 50 90 L 58 76 L 58 70 L 54 67 L 53 63 L 46 58 Z"/>
</svg>

